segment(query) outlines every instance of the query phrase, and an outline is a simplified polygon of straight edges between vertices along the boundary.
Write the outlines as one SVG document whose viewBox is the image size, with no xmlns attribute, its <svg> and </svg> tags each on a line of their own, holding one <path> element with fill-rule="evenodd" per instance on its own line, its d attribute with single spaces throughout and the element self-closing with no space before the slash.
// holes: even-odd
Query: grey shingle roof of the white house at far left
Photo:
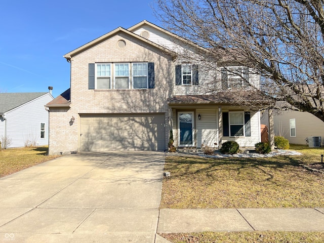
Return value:
<svg viewBox="0 0 324 243">
<path fill-rule="evenodd" d="M 23 105 L 33 99 L 41 97 L 48 92 L 38 93 L 0 93 L 0 114 Z"/>
</svg>

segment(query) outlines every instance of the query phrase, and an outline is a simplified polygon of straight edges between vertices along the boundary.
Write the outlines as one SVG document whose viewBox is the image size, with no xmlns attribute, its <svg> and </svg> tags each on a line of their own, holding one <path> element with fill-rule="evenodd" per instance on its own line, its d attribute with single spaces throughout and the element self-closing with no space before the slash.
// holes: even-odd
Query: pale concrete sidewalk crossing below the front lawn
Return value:
<svg viewBox="0 0 324 243">
<path fill-rule="evenodd" d="M 323 231 L 324 209 L 161 209 L 157 233 Z"/>
</svg>

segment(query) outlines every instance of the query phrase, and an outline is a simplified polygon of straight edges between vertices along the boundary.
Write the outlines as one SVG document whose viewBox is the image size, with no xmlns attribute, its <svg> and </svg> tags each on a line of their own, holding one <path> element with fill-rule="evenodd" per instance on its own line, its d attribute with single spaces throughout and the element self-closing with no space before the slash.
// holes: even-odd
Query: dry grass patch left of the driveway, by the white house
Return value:
<svg viewBox="0 0 324 243">
<path fill-rule="evenodd" d="M 47 155 L 48 147 L 9 148 L 0 151 L 0 177 L 57 157 Z"/>
</svg>

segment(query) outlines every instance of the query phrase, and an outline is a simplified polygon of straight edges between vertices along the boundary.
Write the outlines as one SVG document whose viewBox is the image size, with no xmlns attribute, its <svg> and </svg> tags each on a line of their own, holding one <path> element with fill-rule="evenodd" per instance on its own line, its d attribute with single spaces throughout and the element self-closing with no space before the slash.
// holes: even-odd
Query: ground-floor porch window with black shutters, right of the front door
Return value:
<svg viewBox="0 0 324 243">
<path fill-rule="evenodd" d="M 223 112 L 224 137 L 251 137 L 251 114 L 244 111 Z"/>
</svg>

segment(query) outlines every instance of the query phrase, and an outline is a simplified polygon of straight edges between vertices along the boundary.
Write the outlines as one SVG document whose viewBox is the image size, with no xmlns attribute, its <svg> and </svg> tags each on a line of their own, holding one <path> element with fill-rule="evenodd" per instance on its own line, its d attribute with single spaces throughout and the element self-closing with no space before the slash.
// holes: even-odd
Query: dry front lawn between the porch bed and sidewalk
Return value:
<svg viewBox="0 0 324 243">
<path fill-rule="evenodd" d="M 322 148 L 294 146 L 303 155 L 271 158 L 168 156 L 160 208 L 324 207 L 324 174 L 303 169 Z"/>
</svg>

